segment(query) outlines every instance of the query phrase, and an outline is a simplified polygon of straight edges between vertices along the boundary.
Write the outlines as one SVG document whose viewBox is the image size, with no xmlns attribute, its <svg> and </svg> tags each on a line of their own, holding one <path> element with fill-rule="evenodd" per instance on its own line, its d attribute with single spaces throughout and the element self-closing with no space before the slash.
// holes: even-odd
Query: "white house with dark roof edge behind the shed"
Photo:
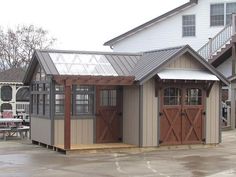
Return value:
<svg viewBox="0 0 236 177">
<path fill-rule="evenodd" d="M 115 52 L 139 52 L 190 45 L 196 51 L 231 22 L 236 0 L 190 0 L 114 39 Z"/>
</svg>

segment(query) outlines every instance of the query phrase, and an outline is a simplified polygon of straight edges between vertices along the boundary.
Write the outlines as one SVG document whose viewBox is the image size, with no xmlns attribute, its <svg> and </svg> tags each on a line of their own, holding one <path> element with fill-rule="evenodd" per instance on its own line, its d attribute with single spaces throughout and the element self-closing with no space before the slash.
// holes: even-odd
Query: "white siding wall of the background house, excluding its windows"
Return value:
<svg viewBox="0 0 236 177">
<path fill-rule="evenodd" d="M 116 52 L 140 52 L 185 44 L 198 50 L 208 42 L 208 38 L 214 37 L 223 28 L 223 26 L 210 26 L 210 4 L 222 2 L 236 1 L 199 0 L 197 5 L 115 43 L 113 50 Z M 196 15 L 196 35 L 182 37 L 182 16 L 192 14 Z"/>
</svg>

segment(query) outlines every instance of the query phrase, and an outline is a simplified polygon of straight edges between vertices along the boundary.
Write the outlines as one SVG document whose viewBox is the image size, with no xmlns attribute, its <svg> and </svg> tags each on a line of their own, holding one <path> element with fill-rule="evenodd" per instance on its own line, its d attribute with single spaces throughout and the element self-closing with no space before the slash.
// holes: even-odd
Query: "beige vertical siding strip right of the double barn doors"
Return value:
<svg viewBox="0 0 236 177">
<path fill-rule="evenodd" d="M 219 143 L 219 92 L 219 82 L 217 82 L 213 85 L 206 101 L 206 144 Z"/>
</svg>

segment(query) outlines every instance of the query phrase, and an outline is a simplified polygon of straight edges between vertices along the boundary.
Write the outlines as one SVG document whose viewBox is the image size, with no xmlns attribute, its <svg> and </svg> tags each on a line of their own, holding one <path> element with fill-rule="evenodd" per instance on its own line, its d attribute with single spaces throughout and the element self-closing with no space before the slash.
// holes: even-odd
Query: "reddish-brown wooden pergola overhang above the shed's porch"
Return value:
<svg viewBox="0 0 236 177">
<path fill-rule="evenodd" d="M 54 75 L 53 80 L 60 85 L 133 85 L 135 77 Z"/>
</svg>

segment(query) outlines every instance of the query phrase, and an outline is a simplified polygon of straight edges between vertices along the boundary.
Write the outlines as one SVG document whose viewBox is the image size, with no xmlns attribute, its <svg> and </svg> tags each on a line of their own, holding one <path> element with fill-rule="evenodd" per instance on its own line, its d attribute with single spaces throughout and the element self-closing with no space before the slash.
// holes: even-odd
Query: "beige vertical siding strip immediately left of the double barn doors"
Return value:
<svg viewBox="0 0 236 177">
<path fill-rule="evenodd" d="M 158 99 L 155 97 L 155 80 L 143 85 L 142 145 L 157 146 Z"/>
</svg>

